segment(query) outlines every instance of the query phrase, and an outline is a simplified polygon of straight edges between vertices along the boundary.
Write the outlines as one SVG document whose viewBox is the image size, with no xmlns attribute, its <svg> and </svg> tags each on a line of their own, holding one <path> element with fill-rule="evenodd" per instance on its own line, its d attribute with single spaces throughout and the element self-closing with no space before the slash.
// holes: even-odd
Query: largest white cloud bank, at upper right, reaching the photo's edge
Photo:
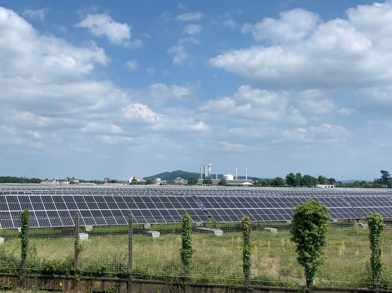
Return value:
<svg viewBox="0 0 392 293">
<path fill-rule="evenodd" d="M 223 52 L 210 64 L 247 77 L 259 86 L 368 87 L 392 78 L 392 2 L 359 5 L 347 19 L 323 22 L 317 14 L 293 9 L 279 19 L 243 26 L 257 45 Z M 366 23 L 366 25 L 364 25 Z"/>
</svg>

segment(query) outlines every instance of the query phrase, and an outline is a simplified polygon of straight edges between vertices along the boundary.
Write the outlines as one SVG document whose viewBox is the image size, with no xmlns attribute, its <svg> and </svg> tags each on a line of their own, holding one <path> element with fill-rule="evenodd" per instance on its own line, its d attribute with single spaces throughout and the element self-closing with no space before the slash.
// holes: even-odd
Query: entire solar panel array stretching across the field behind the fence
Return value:
<svg viewBox="0 0 392 293">
<path fill-rule="evenodd" d="M 32 227 L 292 220 L 307 199 L 328 207 L 332 219 L 361 219 L 375 212 L 392 218 L 392 190 L 173 186 L 0 185 L 0 228 L 20 227 L 29 209 Z M 210 218 L 209 218 L 210 217 Z"/>
</svg>

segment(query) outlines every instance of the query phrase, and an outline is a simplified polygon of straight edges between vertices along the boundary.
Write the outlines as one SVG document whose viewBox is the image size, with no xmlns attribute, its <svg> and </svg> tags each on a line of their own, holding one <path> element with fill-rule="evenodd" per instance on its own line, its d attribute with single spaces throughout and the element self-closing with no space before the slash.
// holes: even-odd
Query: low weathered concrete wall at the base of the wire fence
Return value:
<svg viewBox="0 0 392 293">
<path fill-rule="evenodd" d="M 229 288 L 225 285 L 213 284 L 167 284 L 160 281 L 132 280 L 129 282 L 125 279 L 111 278 L 90 278 L 79 277 L 79 280 L 73 277 L 65 276 L 41 276 L 31 275 L 20 279 L 17 275 L 0 273 L 0 279 L 4 282 L 9 280 L 14 284 L 14 288 L 36 288 L 43 290 L 79 290 L 104 292 L 105 289 L 112 288 L 118 293 L 298 293 L 298 289 L 284 287 L 252 287 L 249 288 Z M 76 288 L 74 286 L 77 285 Z M 112 290 L 111 290 L 112 291 Z M 313 287 L 315 293 L 392 293 L 392 291 L 380 291 L 377 289 L 356 289 L 356 288 L 329 288 Z"/>
</svg>

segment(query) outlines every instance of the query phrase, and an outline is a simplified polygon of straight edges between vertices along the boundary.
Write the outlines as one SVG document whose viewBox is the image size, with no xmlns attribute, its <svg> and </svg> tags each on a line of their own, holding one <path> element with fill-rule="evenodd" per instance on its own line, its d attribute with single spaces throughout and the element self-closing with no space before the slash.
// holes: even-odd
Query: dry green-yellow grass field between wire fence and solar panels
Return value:
<svg viewBox="0 0 392 293">
<path fill-rule="evenodd" d="M 265 226 L 277 234 L 262 231 Z M 242 234 L 238 224 L 214 223 L 223 236 L 192 234 L 194 254 L 189 278 L 194 282 L 243 284 Z M 135 227 L 134 227 L 135 228 Z M 133 235 L 132 273 L 143 279 L 177 280 L 185 277 L 180 259 L 180 225 L 153 225 L 160 237 Z M 81 231 L 84 232 L 84 231 Z M 94 226 L 89 239 L 81 244 L 81 275 L 117 277 L 127 274 L 127 226 Z M 20 262 L 20 241 L 15 231 L 0 230 L 5 238 L 0 245 L 0 271 L 12 272 Z M 290 241 L 289 225 L 263 223 L 253 225 L 252 283 L 270 286 L 300 286 L 303 268 L 298 265 L 296 246 Z M 370 249 L 368 230 L 357 226 L 341 227 L 331 223 L 327 236 L 325 264 L 315 285 L 370 286 L 367 268 Z M 71 228 L 31 229 L 28 268 L 32 273 L 73 273 L 74 237 Z M 392 226 L 383 233 L 383 283 L 392 283 Z"/>
</svg>

